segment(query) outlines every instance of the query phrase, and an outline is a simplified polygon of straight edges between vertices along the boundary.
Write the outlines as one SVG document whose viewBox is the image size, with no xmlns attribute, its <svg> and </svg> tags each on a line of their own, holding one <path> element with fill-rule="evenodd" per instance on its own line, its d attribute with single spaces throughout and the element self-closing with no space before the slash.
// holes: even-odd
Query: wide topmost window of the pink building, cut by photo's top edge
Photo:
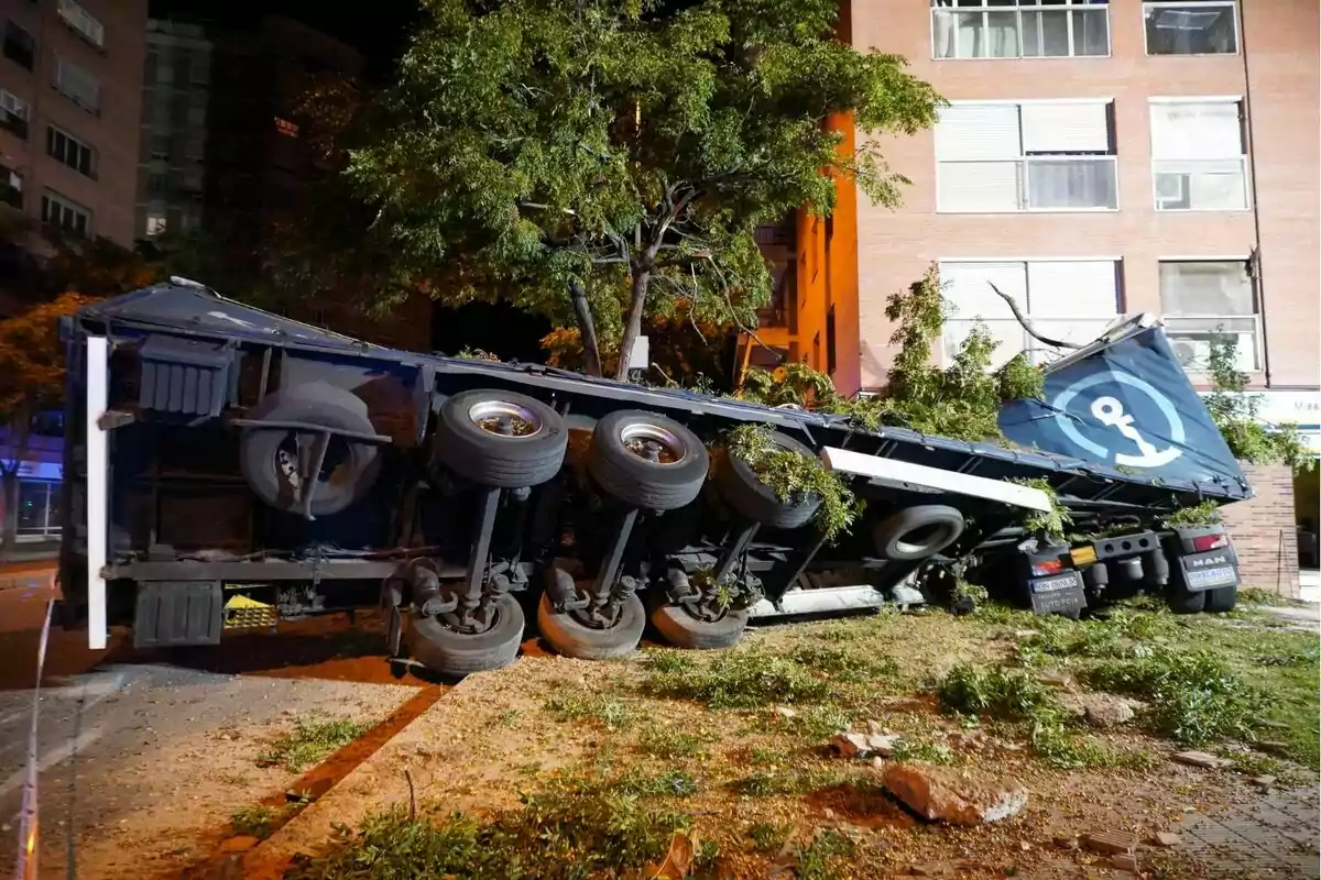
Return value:
<svg viewBox="0 0 1321 880">
<path fill-rule="evenodd" d="M 1107 0 L 931 0 L 935 58 L 1110 54 Z"/>
</svg>

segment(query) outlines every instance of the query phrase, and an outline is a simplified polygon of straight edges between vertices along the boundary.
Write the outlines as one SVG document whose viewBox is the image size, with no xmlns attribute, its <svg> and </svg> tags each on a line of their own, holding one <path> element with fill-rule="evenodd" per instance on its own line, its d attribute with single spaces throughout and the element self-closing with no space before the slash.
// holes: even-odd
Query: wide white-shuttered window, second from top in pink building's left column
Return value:
<svg viewBox="0 0 1321 880">
<path fill-rule="evenodd" d="M 946 107 L 935 128 L 937 210 L 1118 208 L 1110 111 L 1103 102 Z"/>
</svg>

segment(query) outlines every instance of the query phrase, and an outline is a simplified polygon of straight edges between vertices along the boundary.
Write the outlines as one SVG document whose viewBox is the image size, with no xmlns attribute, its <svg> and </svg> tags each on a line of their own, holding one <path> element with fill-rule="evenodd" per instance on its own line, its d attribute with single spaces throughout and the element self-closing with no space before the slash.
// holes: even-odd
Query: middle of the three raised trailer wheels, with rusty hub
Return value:
<svg viewBox="0 0 1321 880">
<path fill-rule="evenodd" d="M 707 447 L 679 422 L 622 409 L 596 424 L 588 472 L 616 501 L 675 511 L 701 492 L 709 463 Z"/>
</svg>

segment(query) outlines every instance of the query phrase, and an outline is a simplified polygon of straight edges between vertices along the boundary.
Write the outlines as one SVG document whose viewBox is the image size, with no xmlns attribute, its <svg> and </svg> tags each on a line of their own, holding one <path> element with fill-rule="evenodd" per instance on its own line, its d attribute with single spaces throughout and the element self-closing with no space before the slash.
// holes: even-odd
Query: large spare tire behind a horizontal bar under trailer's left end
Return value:
<svg viewBox="0 0 1321 880">
<path fill-rule="evenodd" d="M 376 433 L 362 398 L 326 383 L 295 385 L 268 394 L 250 410 L 248 418 Z M 312 496 L 312 516 L 339 513 L 366 495 L 380 474 L 380 458 L 376 446 L 332 435 Z M 303 501 L 295 500 L 297 460 L 295 431 L 244 427 L 239 437 L 243 479 L 254 495 L 277 511 L 303 512 Z"/>
</svg>

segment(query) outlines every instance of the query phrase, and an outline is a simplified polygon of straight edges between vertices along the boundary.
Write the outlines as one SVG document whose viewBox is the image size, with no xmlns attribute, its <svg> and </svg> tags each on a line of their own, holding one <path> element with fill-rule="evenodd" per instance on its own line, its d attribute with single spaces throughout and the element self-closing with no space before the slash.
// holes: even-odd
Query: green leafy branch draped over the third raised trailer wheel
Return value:
<svg viewBox="0 0 1321 880">
<path fill-rule="evenodd" d="M 859 507 L 844 479 L 827 471 L 818 459 L 779 446 L 774 434 L 769 425 L 748 422 L 729 431 L 725 449 L 748 464 L 782 501 L 799 501 L 815 495 L 820 505 L 814 521 L 827 541 L 848 532 L 857 519 Z"/>
</svg>

